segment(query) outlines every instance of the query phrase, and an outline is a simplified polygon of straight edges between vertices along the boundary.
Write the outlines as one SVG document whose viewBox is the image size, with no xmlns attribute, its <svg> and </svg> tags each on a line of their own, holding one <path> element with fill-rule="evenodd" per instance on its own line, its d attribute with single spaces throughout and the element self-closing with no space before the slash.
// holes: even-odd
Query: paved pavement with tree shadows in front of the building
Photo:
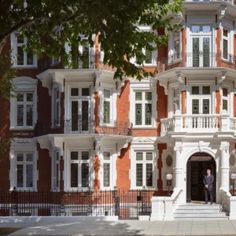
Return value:
<svg viewBox="0 0 236 236">
<path fill-rule="evenodd" d="M 8 230 L 8 231 L 7 231 Z M 236 220 L 108 221 L 103 217 L 0 217 L 0 235 L 236 235 Z"/>
</svg>

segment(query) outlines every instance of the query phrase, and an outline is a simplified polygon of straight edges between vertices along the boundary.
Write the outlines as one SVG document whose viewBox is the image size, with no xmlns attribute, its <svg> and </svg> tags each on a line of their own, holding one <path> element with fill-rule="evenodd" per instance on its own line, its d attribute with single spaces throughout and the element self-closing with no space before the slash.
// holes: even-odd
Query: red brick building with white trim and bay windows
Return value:
<svg viewBox="0 0 236 236">
<path fill-rule="evenodd" d="M 182 204 L 204 200 L 210 168 L 215 201 L 228 209 L 236 171 L 235 19 L 232 2 L 186 1 L 181 30 L 145 52 L 143 65 L 155 76 L 142 81 L 113 80 L 97 41 L 79 47 L 87 68 L 61 69 L 22 51 L 26 39 L 12 34 L 6 47 L 16 95 L 0 100 L 0 134 L 13 139 L 0 161 L 1 190 L 146 189 L 162 196 L 171 174 L 172 198 Z"/>
</svg>

